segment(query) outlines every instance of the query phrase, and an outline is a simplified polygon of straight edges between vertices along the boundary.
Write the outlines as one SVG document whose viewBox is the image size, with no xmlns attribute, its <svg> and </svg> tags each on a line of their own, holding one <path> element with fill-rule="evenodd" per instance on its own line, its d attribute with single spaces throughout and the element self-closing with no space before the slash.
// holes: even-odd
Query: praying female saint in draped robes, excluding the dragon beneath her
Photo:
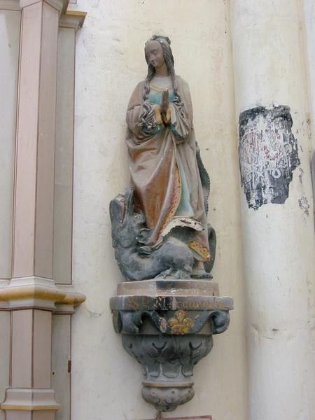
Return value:
<svg viewBox="0 0 315 420">
<path fill-rule="evenodd" d="M 191 276 L 209 278 L 204 270 L 210 258 L 209 177 L 197 154 L 189 87 L 175 74 L 170 43 L 165 36 L 146 43 L 148 75 L 127 108 L 134 205 L 146 217 L 144 253 L 153 253 L 167 235 L 175 235 L 195 258 Z"/>
</svg>

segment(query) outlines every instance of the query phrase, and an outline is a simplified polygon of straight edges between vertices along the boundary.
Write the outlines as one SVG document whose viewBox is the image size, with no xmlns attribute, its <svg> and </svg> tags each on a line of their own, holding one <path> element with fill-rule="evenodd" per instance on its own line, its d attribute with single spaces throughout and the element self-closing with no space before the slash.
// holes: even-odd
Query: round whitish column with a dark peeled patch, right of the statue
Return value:
<svg viewBox="0 0 315 420">
<path fill-rule="evenodd" d="M 234 0 L 231 6 L 237 121 L 244 110 L 266 107 L 243 120 L 239 138 L 247 192 L 240 194 L 249 419 L 312 420 L 314 223 L 299 1 Z M 273 104 L 290 107 L 296 144 L 288 111 L 276 116 L 281 107 Z M 281 196 L 283 176 L 288 197 Z M 260 189 L 262 200 L 255 202 Z"/>
</svg>

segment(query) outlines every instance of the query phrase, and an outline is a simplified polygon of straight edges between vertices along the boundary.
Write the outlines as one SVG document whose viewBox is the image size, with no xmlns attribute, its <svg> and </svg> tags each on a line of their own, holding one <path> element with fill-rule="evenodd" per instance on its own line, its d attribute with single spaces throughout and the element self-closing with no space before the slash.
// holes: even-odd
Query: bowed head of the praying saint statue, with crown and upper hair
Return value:
<svg viewBox="0 0 315 420">
<path fill-rule="evenodd" d="M 146 42 L 145 48 L 146 62 L 148 63 L 148 75 L 154 75 L 155 69 L 167 65 L 169 75 L 174 75 L 174 57 L 171 48 L 171 41 L 167 36 L 153 35 Z"/>
</svg>

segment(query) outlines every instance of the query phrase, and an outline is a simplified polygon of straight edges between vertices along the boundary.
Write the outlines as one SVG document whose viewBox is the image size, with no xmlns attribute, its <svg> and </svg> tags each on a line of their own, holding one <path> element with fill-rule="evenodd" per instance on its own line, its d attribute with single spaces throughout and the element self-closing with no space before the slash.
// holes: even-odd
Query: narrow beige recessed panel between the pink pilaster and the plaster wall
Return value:
<svg viewBox="0 0 315 420">
<path fill-rule="evenodd" d="M 59 28 L 53 278 L 71 283 L 75 29 Z"/>
</svg>

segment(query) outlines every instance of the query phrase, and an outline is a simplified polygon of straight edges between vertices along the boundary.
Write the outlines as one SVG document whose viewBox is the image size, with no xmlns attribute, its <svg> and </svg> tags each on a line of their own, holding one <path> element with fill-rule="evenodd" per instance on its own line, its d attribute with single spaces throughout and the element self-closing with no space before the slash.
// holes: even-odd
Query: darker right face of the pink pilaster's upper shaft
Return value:
<svg viewBox="0 0 315 420">
<path fill-rule="evenodd" d="M 52 278 L 57 34 L 59 14 L 43 3 L 38 109 L 35 275 Z"/>
</svg>

